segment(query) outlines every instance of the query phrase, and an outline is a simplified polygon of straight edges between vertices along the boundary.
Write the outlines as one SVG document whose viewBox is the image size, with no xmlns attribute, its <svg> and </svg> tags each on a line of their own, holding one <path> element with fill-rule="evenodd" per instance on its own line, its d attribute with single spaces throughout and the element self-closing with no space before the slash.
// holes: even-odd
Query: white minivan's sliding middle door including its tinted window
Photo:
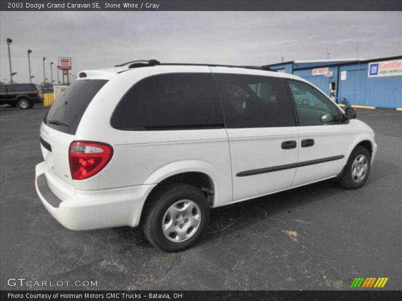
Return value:
<svg viewBox="0 0 402 301">
<path fill-rule="evenodd" d="M 295 174 L 298 133 L 285 83 L 266 76 L 265 71 L 248 75 L 244 69 L 239 74 L 236 69 L 230 74 L 228 68 L 212 70 L 229 136 L 233 201 L 289 188 Z"/>
</svg>

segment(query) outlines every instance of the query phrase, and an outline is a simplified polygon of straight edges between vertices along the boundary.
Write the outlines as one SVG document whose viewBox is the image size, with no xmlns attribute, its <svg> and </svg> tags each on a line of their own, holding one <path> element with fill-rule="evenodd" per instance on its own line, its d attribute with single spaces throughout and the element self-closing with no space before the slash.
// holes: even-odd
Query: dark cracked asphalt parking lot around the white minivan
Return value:
<svg viewBox="0 0 402 301">
<path fill-rule="evenodd" d="M 46 109 L 0 108 L 1 289 L 349 289 L 354 277 L 402 283 L 402 112 L 357 110 L 378 153 L 360 190 L 334 181 L 217 208 L 191 249 L 164 253 L 129 227 L 75 232 L 34 188 Z M 9 278 L 97 281 L 8 286 Z"/>
</svg>

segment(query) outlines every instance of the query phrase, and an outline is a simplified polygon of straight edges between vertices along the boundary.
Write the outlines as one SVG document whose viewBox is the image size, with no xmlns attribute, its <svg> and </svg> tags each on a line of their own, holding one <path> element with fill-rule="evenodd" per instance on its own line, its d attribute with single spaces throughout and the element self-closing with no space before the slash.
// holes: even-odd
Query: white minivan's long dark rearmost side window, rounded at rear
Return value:
<svg viewBox="0 0 402 301">
<path fill-rule="evenodd" d="M 147 77 L 123 96 L 111 125 L 121 130 L 223 128 L 214 78 L 211 73 Z"/>
</svg>

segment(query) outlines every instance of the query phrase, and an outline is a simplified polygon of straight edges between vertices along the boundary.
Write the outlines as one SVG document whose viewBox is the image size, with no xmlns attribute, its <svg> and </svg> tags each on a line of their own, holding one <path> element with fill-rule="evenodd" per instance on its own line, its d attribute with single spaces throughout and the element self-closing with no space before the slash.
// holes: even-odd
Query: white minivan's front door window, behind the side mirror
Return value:
<svg viewBox="0 0 402 301">
<path fill-rule="evenodd" d="M 320 117 L 326 113 L 339 116 L 339 110 L 316 88 L 299 81 L 288 80 L 299 118 L 299 125 L 323 125 Z"/>
</svg>

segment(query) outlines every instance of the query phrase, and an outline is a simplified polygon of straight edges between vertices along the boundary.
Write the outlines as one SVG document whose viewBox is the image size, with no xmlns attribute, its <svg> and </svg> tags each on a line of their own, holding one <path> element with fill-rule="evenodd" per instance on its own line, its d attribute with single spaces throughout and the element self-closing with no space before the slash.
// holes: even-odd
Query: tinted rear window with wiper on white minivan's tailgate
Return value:
<svg viewBox="0 0 402 301">
<path fill-rule="evenodd" d="M 75 134 L 88 104 L 107 82 L 103 79 L 75 81 L 60 94 L 43 122 L 61 132 Z"/>
</svg>

